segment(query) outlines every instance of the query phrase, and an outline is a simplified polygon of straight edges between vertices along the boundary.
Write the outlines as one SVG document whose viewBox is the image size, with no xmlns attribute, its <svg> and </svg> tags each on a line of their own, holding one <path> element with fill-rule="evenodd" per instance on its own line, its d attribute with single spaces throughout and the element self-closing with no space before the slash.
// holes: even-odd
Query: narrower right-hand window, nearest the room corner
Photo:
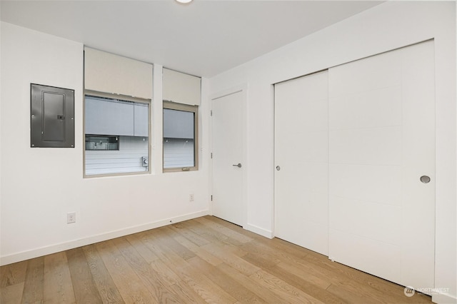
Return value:
<svg viewBox="0 0 457 304">
<path fill-rule="evenodd" d="M 164 101 L 164 172 L 198 169 L 198 106 Z"/>
</svg>

